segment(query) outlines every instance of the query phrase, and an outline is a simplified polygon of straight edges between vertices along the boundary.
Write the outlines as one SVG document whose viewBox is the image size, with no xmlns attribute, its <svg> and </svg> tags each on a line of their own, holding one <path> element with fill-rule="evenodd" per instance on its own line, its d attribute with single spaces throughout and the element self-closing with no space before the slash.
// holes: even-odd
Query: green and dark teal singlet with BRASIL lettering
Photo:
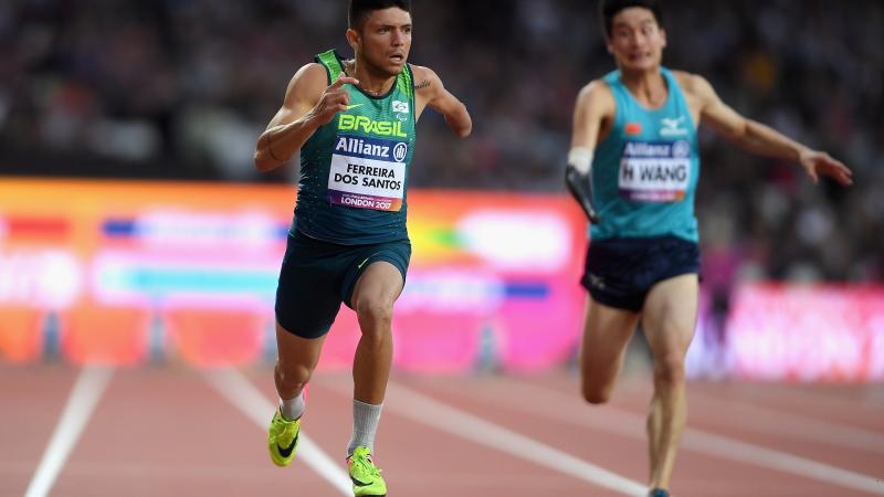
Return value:
<svg viewBox="0 0 884 497">
<path fill-rule="evenodd" d="M 334 50 L 316 62 L 328 84 L 344 72 Z M 352 85 L 347 110 L 319 127 L 301 149 L 293 230 L 346 245 L 408 240 L 406 183 L 414 149 L 414 84 L 406 64 L 379 97 Z"/>
</svg>

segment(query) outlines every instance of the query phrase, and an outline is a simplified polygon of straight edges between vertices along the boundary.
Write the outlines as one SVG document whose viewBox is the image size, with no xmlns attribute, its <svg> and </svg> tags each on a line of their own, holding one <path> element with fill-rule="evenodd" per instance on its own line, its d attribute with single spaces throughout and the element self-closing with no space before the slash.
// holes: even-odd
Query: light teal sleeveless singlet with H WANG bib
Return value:
<svg viewBox="0 0 884 497">
<path fill-rule="evenodd" d="M 669 96 L 655 110 L 635 101 L 619 71 L 604 76 L 617 110 L 592 160 L 592 194 L 601 216 L 590 228 L 593 240 L 673 235 L 698 241 L 696 126 L 675 77 L 661 71 Z"/>
</svg>

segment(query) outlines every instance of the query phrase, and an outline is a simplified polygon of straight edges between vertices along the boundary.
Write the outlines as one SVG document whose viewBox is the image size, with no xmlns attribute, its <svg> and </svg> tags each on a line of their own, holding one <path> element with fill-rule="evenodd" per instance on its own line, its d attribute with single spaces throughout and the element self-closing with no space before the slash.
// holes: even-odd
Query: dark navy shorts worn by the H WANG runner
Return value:
<svg viewBox="0 0 884 497">
<path fill-rule="evenodd" d="M 675 236 L 590 241 L 583 287 L 599 304 L 638 313 L 657 283 L 699 274 L 699 246 Z"/>
</svg>

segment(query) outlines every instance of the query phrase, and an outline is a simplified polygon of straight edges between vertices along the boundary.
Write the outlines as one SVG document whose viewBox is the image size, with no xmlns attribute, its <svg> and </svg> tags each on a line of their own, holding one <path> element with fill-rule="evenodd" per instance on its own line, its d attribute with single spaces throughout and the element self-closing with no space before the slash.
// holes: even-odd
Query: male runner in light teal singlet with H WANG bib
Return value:
<svg viewBox="0 0 884 497">
<path fill-rule="evenodd" d="M 588 402 L 608 401 L 641 318 L 654 360 L 649 495 L 665 497 L 686 419 L 684 357 L 697 314 L 696 126 L 794 160 L 814 182 L 828 175 L 846 186 L 851 171 L 740 116 L 703 77 L 661 67 L 666 33 L 657 1 L 602 0 L 600 10 L 619 71 L 578 95 L 566 173 L 592 221 L 581 387 Z"/>
</svg>

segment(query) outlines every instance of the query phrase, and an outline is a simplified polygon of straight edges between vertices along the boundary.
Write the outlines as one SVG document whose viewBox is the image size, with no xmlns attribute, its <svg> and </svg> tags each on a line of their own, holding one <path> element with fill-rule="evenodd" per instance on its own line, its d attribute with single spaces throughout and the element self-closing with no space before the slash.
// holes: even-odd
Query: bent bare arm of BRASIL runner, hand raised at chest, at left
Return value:
<svg viewBox="0 0 884 497">
<path fill-rule="evenodd" d="M 288 82 L 283 106 L 257 138 L 254 159 L 259 171 L 276 169 L 291 160 L 319 126 L 347 109 L 350 95 L 341 86 L 359 81 L 341 73 L 327 86 L 326 74 L 322 65 L 307 64 Z"/>
</svg>

